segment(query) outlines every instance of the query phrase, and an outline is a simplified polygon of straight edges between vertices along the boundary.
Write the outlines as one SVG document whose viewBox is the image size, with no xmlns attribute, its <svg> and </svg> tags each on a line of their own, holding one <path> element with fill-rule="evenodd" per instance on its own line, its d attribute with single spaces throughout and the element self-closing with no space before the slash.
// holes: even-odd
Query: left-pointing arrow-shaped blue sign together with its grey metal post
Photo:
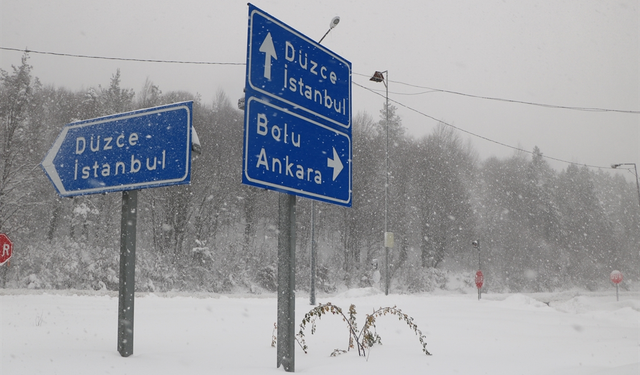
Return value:
<svg viewBox="0 0 640 375">
<path fill-rule="evenodd" d="M 138 190 L 191 183 L 193 102 L 65 125 L 41 163 L 63 197 L 122 191 L 118 352 L 133 354 Z M 197 142 L 196 142 L 197 143 Z"/>
</svg>

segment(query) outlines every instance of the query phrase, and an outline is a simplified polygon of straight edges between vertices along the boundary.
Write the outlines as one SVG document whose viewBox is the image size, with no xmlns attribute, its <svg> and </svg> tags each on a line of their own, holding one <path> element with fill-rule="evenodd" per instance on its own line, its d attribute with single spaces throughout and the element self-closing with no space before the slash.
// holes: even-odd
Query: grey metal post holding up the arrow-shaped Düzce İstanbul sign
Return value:
<svg viewBox="0 0 640 375">
<path fill-rule="evenodd" d="M 133 354 L 137 211 L 138 191 L 123 191 L 120 219 L 120 287 L 118 292 L 118 352 L 123 357 Z"/>
</svg>

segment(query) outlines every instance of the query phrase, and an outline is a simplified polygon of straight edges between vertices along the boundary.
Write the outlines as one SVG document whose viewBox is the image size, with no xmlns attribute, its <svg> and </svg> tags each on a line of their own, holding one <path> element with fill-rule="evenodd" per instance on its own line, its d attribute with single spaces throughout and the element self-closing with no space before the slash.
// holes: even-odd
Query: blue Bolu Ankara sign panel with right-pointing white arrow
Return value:
<svg viewBox="0 0 640 375">
<path fill-rule="evenodd" d="M 249 98 L 245 107 L 242 181 L 351 206 L 351 137 Z"/>
</svg>

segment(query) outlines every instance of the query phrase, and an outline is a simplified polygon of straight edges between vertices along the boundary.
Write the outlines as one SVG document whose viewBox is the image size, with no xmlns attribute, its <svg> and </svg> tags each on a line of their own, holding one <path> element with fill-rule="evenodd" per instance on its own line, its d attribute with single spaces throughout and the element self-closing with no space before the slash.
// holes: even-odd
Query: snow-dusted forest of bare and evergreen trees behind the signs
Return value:
<svg viewBox="0 0 640 375">
<path fill-rule="evenodd" d="M 117 290 L 122 195 L 61 198 L 40 162 L 65 124 L 192 100 L 202 153 L 191 185 L 138 195 L 136 287 L 275 290 L 278 193 L 241 183 L 243 112 L 224 93 L 203 103 L 150 80 L 136 93 L 121 87 L 120 71 L 74 92 L 42 85 L 26 54 L 0 74 L 0 233 L 14 243 L 2 287 Z M 488 291 L 597 289 L 614 269 L 640 277 L 634 183 L 585 166 L 553 169 L 537 147 L 480 160 L 445 124 L 415 138 L 394 106 L 388 124 L 384 110 L 353 119 L 353 207 L 315 205 L 320 290 L 371 286 L 375 265 L 385 269 L 387 127 L 392 292 L 443 288 L 452 273 L 473 286 L 478 267 Z M 309 289 L 310 217 L 311 201 L 298 198 L 299 290 Z"/>
</svg>

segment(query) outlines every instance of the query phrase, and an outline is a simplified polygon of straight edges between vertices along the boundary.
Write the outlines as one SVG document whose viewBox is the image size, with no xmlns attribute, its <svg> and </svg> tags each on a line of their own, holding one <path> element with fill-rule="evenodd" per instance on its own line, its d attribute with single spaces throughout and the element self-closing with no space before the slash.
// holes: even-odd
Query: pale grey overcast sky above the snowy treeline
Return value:
<svg viewBox="0 0 640 375">
<path fill-rule="evenodd" d="M 512 155 L 505 144 L 525 150 L 538 146 L 545 156 L 578 164 L 640 163 L 640 1 L 252 3 L 315 40 L 340 16 L 322 44 L 353 65 L 354 113 L 379 118 L 384 85 L 369 77 L 388 70 L 389 97 L 401 103 L 395 104 L 398 114 L 415 137 L 430 133 L 437 119 L 480 136 L 460 133 L 482 159 Z M 163 92 L 199 93 L 211 103 L 223 90 L 235 103 L 243 95 L 247 14 L 246 0 L 1 0 L 0 47 L 235 63 L 30 54 L 33 74 L 56 87 L 105 87 L 120 68 L 122 85 L 136 92 L 149 78 Z M 0 68 L 19 65 L 21 55 L 0 50 Z"/>
</svg>

